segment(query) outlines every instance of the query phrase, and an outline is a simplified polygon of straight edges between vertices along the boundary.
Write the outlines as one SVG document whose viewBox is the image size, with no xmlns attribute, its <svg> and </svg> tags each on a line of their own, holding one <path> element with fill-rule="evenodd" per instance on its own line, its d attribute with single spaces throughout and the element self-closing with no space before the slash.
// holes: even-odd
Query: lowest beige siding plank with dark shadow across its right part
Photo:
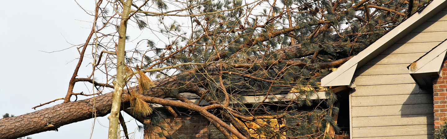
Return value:
<svg viewBox="0 0 447 139">
<path fill-rule="evenodd" d="M 406 115 L 406 114 L 432 114 L 433 103 L 408 104 L 388 106 L 352 106 L 352 117 Z"/>
</svg>

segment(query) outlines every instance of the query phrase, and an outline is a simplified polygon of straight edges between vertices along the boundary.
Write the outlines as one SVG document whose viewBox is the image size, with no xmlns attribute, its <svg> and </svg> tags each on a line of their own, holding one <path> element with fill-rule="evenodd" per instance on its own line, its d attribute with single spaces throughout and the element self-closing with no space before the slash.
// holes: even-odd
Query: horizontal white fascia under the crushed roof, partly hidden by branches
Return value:
<svg viewBox="0 0 447 139">
<path fill-rule="evenodd" d="M 260 95 L 260 96 L 241 96 L 241 102 L 239 103 L 256 103 L 256 102 L 261 102 L 266 96 L 265 95 Z M 269 95 L 268 96 L 271 99 L 266 99 L 265 102 L 280 102 L 280 101 L 288 101 L 290 99 L 296 99 L 296 98 L 306 98 L 306 95 L 303 95 L 301 93 L 289 93 L 289 94 L 275 94 L 275 95 Z M 279 99 L 278 99 L 279 98 Z M 311 100 L 314 99 L 326 99 L 326 92 L 322 91 L 322 92 L 316 92 L 315 95 L 309 96 L 309 98 Z M 190 99 L 191 102 L 194 102 L 195 104 L 197 104 L 197 102 L 200 99 Z M 176 100 L 178 102 L 180 102 L 180 100 Z M 236 103 L 234 101 L 232 101 L 231 103 Z M 201 102 L 199 103 L 199 105 L 210 105 L 208 102 L 206 102 L 205 100 L 201 100 Z M 152 104 L 153 107 L 163 107 L 160 104 Z"/>
</svg>

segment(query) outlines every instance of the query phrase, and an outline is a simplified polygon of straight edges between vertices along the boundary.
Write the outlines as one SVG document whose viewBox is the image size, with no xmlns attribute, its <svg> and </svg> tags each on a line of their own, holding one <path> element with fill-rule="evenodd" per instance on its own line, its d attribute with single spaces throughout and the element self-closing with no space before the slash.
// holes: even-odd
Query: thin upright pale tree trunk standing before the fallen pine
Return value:
<svg viewBox="0 0 447 139">
<path fill-rule="evenodd" d="M 117 139 L 118 127 L 119 127 L 119 109 L 121 107 L 121 99 L 123 88 L 126 79 L 126 63 L 124 61 L 124 54 L 126 48 L 126 30 L 127 20 L 131 10 L 132 0 L 127 0 L 126 3 L 122 3 L 121 23 L 119 25 L 119 38 L 117 48 L 117 67 L 116 67 L 116 80 L 114 81 L 114 93 L 112 96 L 112 108 L 109 115 L 109 139 Z"/>
</svg>

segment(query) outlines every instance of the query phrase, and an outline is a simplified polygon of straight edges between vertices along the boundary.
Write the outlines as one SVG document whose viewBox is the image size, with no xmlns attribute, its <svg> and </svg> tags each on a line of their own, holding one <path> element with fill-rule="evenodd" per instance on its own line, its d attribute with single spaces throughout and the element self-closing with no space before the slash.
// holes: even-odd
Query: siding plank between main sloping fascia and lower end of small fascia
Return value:
<svg viewBox="0 0 447 139">
<path fill-rule="evenodd" d="M 426 52 L 422 53 L 398 53 L 398 54 L 381 54 L 367 62 L 365 65 L 377 64 L 404 64 L 413 63 L 419 57 L 422 57 Z"/>
</svg>

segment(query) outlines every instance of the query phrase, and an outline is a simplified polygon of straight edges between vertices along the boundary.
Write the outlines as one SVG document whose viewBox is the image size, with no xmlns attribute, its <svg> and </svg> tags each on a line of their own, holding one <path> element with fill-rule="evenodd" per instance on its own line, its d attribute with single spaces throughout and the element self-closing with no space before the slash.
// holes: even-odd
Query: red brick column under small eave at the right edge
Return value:
<svg viewBox="0 0 447 139">
<path fill-rule="evenodd" d="M 447 60 L 443 63 L 441 77 L 433 81 L 434 129 L 444 125 L 447 114 Z"/>
</svg>

